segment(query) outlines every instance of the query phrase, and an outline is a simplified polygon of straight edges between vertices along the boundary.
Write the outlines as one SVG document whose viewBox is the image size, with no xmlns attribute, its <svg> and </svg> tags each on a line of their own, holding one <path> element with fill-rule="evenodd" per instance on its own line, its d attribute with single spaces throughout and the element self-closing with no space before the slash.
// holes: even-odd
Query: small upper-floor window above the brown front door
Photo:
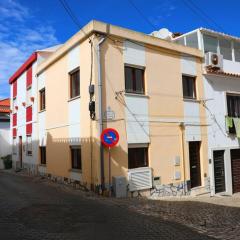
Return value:
<svg viewBox="0 0 240 240">
<path fill-rule="evenodd" d="M 183 98 L 196 99 L 196 77 L 182 76 Z"/>
</svg>

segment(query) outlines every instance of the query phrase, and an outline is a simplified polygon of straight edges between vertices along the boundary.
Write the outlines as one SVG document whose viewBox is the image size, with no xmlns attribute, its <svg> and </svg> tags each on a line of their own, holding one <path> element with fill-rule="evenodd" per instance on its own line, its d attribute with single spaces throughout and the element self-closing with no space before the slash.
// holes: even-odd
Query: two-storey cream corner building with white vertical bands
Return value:
<svg viewBox="0 0 240 240">
<path fill-rule="evenodd" d="M 80 181 L 87 188 L 97 189 L 102 181 L 108 186 L 106 148 L 104 164 L 100 157 L 98 85 L 102 80 L 103 129 L 114 128 L 120 136 L 111 150 L 110 179 L 132 179 L 135 190 L 149 184 L 171 189 L 173 184 L 178 191 L 188 183 L 188 190 L 208 191 L 202 58 L 197 49 L 91 21 L 37 67 L 38 85 L 46 92 L 46 109 L 38 114 L 46 165 L 39 160 L 39 171 Z M 143 93 L 126 91 L 125 67 L 143 70 Z M 80 95 L 71 99 L 70 73 L 77 68 Z M 195 99 L 183 98 L 183 75 L 195 78 Z M 94 85 L 95 120 L 89 114 L 90 82 Z M 72 169 L 73 146 L 81 148 L 79 170 Z M 141 159 L 143 155 L 145 159 Z M 130 164 L 134 169 L 129 169 Z M 146 176 L 152 176 L 153 182 Z"/>
</svg>

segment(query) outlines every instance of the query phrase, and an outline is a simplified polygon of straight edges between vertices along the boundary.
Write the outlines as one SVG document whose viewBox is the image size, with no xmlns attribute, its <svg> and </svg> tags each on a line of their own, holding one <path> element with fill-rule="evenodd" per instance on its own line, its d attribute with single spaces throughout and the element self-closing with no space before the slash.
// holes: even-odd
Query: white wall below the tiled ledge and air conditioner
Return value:
<svg viewBox="0 0 240 240">
<path fill-rule="evenodd" d="M 232 194 L 232 172 L 230 149 L 240 148 L 239 139 L 236 136 L 228 135 L 225 125 L 225 116 L 227 115 L 226 92 L 239 92 L 240 82 L 237 78 L 223 76 L 204 77 L 204 90 L 208 127 L 208 155 L 211 159 L 209 172 L 211 174 L 212 194 L 214 194 L 214 162 L 213 151 L 225 150 L 225 182 L 226 194 Z"/>
</svg>

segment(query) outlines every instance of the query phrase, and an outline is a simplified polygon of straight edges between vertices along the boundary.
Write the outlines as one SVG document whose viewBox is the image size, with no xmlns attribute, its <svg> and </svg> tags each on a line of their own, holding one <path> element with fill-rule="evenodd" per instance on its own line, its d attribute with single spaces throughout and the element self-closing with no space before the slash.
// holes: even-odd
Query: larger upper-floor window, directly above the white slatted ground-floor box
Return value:
<svg viewBox="0 0 240 240">
<path fill-rule="evenodd" d="M 125 90 L 127 93 L 145 93 L 144 69 L 125 66 Z"/>
</svg>

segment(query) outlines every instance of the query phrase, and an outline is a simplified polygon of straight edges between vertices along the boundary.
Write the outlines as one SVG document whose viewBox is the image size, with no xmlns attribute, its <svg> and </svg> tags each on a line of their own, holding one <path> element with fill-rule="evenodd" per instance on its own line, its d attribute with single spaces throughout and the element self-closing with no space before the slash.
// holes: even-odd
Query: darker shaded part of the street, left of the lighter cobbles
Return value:
<svg viewBox="0 0 240 240">
<path fill-rule="evenodd" d="M 0 239 L 213 239 L 189 227 L 0 171 Z"/>
</svg>

